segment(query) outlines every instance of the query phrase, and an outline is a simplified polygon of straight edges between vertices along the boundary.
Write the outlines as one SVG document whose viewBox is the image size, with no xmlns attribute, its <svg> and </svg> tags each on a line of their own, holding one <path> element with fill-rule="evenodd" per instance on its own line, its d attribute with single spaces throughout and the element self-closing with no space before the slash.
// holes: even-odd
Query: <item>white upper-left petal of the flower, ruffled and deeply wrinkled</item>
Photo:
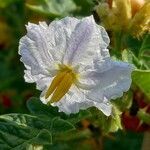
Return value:
<svg viewBox="0 0 150 150">
<path fill-rule="evenodd" d="M 49 26 L 45 22 L 26 26 L 27 35 L 20 40 L 19 54 L 21 61 L 30 66 L 33 75 L 47 75 L 52 66 L 62 61 L 66 42 L 77 23 L 78 19 L 66 17 L 53 21 Z"/>
</svg>

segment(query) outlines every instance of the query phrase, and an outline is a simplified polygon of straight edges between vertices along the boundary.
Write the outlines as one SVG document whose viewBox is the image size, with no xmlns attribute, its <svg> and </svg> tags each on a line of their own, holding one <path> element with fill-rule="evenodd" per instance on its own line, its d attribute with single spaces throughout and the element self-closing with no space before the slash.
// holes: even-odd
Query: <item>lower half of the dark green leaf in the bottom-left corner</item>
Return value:
<svg viewBox="0 0 150 150">
<path fill-rule="evenodd" d="M 12 149 L 12 150 L 24 150 L 29 144 L 43 145 L 47 141 L 41 139 L 41 135 L 44 131 L 31 128 L 29 126 L 19 126 L 14 122 L 7 121 L 5 119 L 0 120 L 0 148 Z M 50 133 L 49 138 L 50 140 Z M 51 141 L 49 141 L 51 143 Z"/>
</svg>

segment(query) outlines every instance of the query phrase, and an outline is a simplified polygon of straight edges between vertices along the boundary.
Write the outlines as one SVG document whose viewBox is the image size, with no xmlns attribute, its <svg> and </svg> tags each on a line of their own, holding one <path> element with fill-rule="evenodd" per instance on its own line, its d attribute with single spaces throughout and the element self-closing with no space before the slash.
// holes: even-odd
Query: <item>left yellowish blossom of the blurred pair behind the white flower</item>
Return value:
<svg viewBox="0 0 150 150">
<path fill-rule="evenodd" d="M 102 20 L 102 24 L 108 30 L 126 29 L 131 19 L 130 0 L 113 0 L 100 3 L 96 7 L 96 11 Z"/>
</svg>

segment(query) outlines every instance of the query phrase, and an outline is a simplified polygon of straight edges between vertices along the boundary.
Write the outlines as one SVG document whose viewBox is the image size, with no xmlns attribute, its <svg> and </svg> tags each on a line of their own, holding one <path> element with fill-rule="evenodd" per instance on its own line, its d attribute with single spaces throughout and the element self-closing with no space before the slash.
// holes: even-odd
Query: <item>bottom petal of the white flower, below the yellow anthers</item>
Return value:
<svg viewBox="0 0 150 150">
<path fill-rule="evenodd" d="M 54 103 L 54 106 L 58 106 L 60 112 L 66 114 L 78 113 L 79 110 L 84 110 L 89 107 L 97 107 L 105 115 L 111 114 L 111 105 L 106 102 L 95 102 L 86 98 L 85 91 L 79 90 L 77 87 L 72 87 L 70 93 L 68 93 L 61 101 Z"/>
</svg>

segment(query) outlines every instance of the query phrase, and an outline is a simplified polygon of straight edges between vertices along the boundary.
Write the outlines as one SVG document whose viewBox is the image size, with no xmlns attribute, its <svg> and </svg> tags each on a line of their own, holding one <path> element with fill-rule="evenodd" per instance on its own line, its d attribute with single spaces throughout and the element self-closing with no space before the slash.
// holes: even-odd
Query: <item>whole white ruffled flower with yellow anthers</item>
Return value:
<svg viewBox="0 0 150 150">
<path fill-rule="evenodd" d="M 25 81 L 36 82 L 41 101 L 67 114 L 95 106 L 109 116 L 109 100 L 130 87 L 132 66 L 111 60 L 109 37 L 93 16 L 29 23 L 26 28 L 19 54 Z"/>
</svg>

